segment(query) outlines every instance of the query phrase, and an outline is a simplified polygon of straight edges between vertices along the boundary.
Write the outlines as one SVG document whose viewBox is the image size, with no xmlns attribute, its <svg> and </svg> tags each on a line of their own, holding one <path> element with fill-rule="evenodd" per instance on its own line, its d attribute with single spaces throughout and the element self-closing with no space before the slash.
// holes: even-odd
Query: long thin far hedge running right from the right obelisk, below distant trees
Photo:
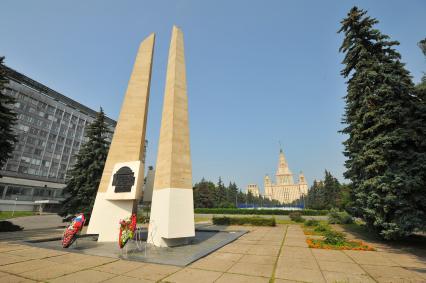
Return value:
<svg viewBox="0 0 426 283">
<path fill-rule="evenodd" d="M 195 213 L 202 214 L 249 214 L 249 215 L 289 215 L 295 210 L 281 209 L 247 209 L 247 208 L 196 208 Z M 328 210 L 297 210 L 305 216 L 327 215 Z"/>
</svg>

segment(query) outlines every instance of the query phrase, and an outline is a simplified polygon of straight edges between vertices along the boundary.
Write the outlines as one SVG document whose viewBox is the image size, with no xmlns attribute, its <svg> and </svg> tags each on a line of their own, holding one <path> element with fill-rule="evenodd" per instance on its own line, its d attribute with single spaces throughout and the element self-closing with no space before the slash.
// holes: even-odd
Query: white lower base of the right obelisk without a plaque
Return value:
<svg viewBox="0 0 426 283">
<path fill-rule="evenodd" d="M 148 243 L 157 247 L 186 244 L 195 236 L 192 189 L 157 189 L 152 194 Z"/>
</svg>

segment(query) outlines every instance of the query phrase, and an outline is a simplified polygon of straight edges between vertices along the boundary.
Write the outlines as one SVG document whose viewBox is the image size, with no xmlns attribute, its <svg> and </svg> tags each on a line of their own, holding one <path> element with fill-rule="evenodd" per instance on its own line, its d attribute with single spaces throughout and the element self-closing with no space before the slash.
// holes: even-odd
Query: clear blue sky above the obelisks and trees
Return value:
<svg viewBox="0 0 426 283">
<path fill-rule="evenodd" d="M 401 42 L 414 81 L 426 64 L 426 1 L 21 1 L 0 4 L 6 64 L 117 119 L 139 42 L 157 35 L 147 138 L 154 165 L 173 24 L 184 33 L 193 181 L 241 188 L 274 174 L 344 180 L 345 80 L 337 34 L 357 5 Z"/>
</svg>

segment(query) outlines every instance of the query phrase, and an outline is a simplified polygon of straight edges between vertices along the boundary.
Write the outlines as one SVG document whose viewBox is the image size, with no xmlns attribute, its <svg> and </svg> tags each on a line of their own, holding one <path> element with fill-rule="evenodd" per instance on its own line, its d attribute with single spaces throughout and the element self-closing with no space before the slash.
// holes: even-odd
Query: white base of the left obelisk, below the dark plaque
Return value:
<svg viewBox="0 0 426 283">
<path fill-rule="evenodd" d="M 131 216 L 135 200 L 108 200 L 107 193 L 96 195 L 87 234 L 99 234 L 98 242 L 118 242 L 120 219 Z"/>
</svg>

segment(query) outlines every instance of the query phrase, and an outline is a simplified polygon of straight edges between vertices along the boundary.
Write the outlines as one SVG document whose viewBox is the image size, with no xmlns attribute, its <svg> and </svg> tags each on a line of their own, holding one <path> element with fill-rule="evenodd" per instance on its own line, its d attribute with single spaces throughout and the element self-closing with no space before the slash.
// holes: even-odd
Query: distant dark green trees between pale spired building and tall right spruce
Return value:
<svg viewBox="0 0 426 283">
<path fill-rule="evenodd" d="M 324 180 L 314 181 L 306 198 L 306 207 L 311 209 L 344 209 L 349 202 L 348 186 L 325 170 Z"/>
</svg>

